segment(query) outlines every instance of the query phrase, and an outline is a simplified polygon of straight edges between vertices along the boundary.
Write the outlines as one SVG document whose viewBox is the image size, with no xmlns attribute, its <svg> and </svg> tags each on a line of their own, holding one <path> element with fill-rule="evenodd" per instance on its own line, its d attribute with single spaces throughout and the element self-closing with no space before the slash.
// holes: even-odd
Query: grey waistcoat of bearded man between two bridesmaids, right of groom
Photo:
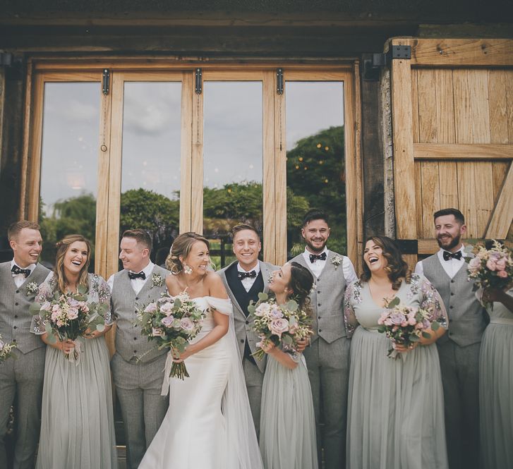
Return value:
<svg viewBox="0 0 513 469">
<path fill-rule="evenodd" d="M 331 262 L 335 255 L 337 255 L 337 252 L 330 250 L 320 277 L 315 279 L 315 274 L 313 274 L 316 288 L 310 293 L 310 302 L 313 307 L 313 330 L 315 332 L 312 336 L 312 342 L 318 337 L 322 337 L 327 343 L 332 343 L 346 336 L 344 327 L 346 279 L 344 279 L 342 262 L 337 269 Z M 343 256 L 339 254 L 339 257 Z M 303 253 L 292 260 L 310 270 Z"/>
</svg>

